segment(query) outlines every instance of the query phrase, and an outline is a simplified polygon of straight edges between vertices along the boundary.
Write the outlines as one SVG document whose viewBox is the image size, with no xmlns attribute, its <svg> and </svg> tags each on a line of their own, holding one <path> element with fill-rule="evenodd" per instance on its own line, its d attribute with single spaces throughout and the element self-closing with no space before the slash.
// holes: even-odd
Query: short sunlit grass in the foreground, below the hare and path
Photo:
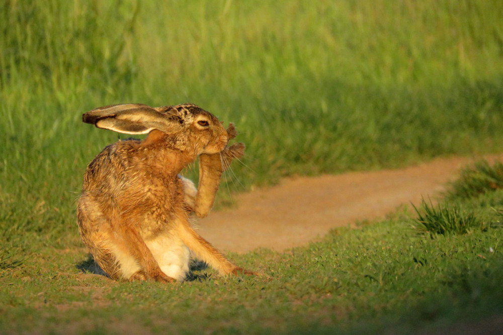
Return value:
<svg viewBox="0 0 503 335">
<path fill-rule="evenodd" d="M 439 208 L 445 206 L 440 200 Z M 417 213 L 404 207 L 384 221 L 334 230 L 286 253 L 229 255 L 260 277 L 221 278 L 202 269 L 192 281 L 171 285 L 85 272 L 88 254 L 74 235 L 0 270 L 0 330 L 424 333 L 460 322 L 481 329 L 503 313 L 503 190 L 452 206 L 476 210 L 487 229 L 432 239 L 417 234 Z"/>
</svg>

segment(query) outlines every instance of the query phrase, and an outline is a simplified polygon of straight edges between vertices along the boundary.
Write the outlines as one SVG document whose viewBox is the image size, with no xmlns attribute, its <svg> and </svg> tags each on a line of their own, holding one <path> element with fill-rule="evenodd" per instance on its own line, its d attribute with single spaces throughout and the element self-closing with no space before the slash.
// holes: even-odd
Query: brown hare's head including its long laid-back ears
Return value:
<svg viewBox="0 0 503 335">
<path fill-rule="evenodd" d="M 215 116 L 191 103 L 164 107 L 110 105 L 88 111 L 82 115 L 82 121 L 124 134 L 157 131 L 156 137 L 174 149 L 196 155 L 220 152 L 229 140 Z"/>
</svg>

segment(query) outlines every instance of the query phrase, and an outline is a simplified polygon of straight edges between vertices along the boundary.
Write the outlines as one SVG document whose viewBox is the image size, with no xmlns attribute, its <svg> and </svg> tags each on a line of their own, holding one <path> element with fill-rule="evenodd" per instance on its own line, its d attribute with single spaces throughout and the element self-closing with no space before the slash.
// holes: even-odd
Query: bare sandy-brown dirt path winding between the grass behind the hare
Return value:
<svg viewBox="0 0 503 335">
<path fill-rule="evenodd" d="M 363 219 L 381 218 L 401 204 L 438 196 L 460 168 L 477 158 L 436 159 L 400 170 L 351 172 L 285 179 L 278 186 L 240 194 L 235 208 L 199 220 L 198 232 L 216 248 L 244 253 L 283 251 Z"/>
</svg>

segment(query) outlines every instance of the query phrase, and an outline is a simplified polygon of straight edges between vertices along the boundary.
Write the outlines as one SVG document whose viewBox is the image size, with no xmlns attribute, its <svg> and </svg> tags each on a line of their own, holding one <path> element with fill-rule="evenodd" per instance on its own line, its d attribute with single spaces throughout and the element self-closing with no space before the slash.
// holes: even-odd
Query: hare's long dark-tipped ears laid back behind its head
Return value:
<svg viewBox="0 0 503 335">
<path fill-rule="evenodd" d="M 147 134 L 154 129 L 164 133 L 179 130 L 176 116 L 160 113 L 162 109 L 166 108 L 139 103 L 115 104 L 88 111 L 82 115 L 82 121 L 124 134 Z"/>
</svg>

